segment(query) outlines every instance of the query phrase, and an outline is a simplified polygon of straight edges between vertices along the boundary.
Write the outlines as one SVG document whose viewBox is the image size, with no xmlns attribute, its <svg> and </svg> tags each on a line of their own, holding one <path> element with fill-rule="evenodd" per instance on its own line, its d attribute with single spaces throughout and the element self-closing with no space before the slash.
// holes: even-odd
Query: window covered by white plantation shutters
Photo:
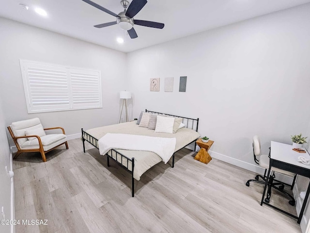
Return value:
<svg viewBox="0 0 310 233">
<path fill-rule="evenodd" d="M 102 108 L 100 71 L 19 62 L 28 113 Z"/>
</svg>

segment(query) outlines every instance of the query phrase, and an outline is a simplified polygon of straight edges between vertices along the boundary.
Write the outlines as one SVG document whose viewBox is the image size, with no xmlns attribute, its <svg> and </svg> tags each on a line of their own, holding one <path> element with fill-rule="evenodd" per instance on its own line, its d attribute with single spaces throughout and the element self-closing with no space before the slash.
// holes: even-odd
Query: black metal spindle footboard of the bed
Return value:
<svg viewBox="0 0 310 233">
<path fill-rule="evenodd" d="M 85 153 L 85 141 L 92 144 L 95 148 L 99 150 L 98 139 L 82 131 L 82 141 L 83 141 L 83 151 Z M 122 166 L 126 171 L 131 173 L 131 196 L 135 196 L 135 179 L 134 179 L 134 168 L 135 168 L 135 158 L 128 158 L 124 154 L 118 152 L 117 150 L 111 149 L 107 153 L 107 165 L 110 166 L 109 159 L 114 160 L 119 166 Z"/>
</svg>

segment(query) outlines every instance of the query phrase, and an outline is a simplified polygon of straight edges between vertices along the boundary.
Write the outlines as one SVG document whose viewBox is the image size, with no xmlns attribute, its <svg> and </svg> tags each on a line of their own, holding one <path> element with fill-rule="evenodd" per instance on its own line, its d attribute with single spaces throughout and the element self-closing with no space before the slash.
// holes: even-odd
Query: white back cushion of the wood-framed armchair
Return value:
<svg viewBox="0 0 310 233">
<path fill-rule="evenodd" d="M 13 134 L 16 137 L 19 136 L 25 136 L 25 132 L 29 131 L 29 130 L 34 130 L 34 129 L 38 129 L 38 128 L 42 128 L 43 126 L 41 124 L 41 121 L 39 118 L 32 118 L 32 119 L 28 119 L 28 120 L 21 120 L 21 121 L 16 121 L 13 122 L 11 125 L 11 129 L 13 131 Z M 23 145 L 26 141 L 28 141 L 27 138 L 19 138 L 17 139 L 17 143 L 18 145 L 21 147 L 21 145 Z"/>
</svg>

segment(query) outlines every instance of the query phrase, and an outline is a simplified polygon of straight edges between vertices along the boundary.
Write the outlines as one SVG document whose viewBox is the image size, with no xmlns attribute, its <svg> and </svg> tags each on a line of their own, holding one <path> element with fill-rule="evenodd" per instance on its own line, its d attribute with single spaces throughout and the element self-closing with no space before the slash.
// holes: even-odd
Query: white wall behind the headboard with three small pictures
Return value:
<svg viewBox="0 0 310 233">
<path fill-rule="evenodd" d="M 263 153 L 271 140 L 291 143 L 310 118 L 309 12 L 305 4 L 128 53 L 134 117 L 145 108 L 199 117 L 214 155 L 249 164 L 253 135 Z M 174 77 L 173 92 L 164 92 L 165 77 Z M 159 92 L 150 92 L 150 78 L 160 78 Z"/>
</svg>

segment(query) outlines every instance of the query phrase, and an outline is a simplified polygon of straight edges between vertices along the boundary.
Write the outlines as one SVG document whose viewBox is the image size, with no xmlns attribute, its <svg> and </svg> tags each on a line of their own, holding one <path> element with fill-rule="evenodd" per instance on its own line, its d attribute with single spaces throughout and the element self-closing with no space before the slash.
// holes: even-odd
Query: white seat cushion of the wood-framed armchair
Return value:
<svg viewBox="0 0 310 233">
<path fill-rule="evenodd" d="M 44 151 L 47 151 L 67 141 L 66 137 L 67 136 L 65 134 L 60 133 L 60 134 L 47 134 L 45 136 L 40 137 L 40 139 Z M 34 148 L 39 148 L 39 141 L 37 138 L 31 141 L 27 140 L 21 146 L 21 149 L 34 149 Z"/>
</svg>

